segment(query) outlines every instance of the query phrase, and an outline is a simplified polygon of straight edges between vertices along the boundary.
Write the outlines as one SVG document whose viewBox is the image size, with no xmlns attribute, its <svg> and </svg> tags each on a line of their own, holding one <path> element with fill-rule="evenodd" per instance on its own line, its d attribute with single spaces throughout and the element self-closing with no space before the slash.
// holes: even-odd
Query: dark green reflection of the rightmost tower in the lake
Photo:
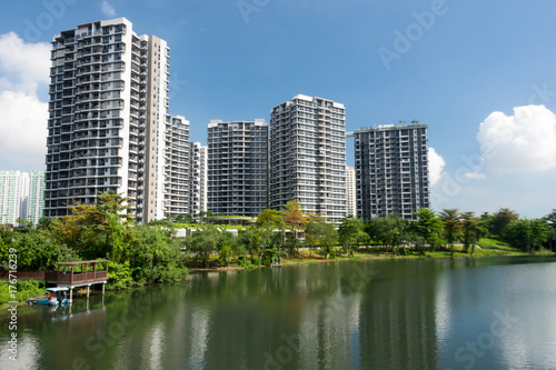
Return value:
<svg viewBox="0 0 556 370">
<path fill-rule="evenodd" d="M 380 263 L 374 267 L 379 269 L 377 278 L 361 301 L 361 368 L 435 369 L 434 264 L 398 261 L 383 270 Z"/>
</svg>

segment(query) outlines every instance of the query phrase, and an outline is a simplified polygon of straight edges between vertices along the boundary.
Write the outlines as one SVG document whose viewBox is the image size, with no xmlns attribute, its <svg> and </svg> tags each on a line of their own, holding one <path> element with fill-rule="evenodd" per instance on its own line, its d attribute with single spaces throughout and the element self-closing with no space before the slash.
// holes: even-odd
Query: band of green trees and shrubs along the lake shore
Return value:
<svg viewBox="0 0 556 370">
<path fill-rule="evenodd" d="M 229 228 L 206 223 L 210 212 L 197 219 L 168 216 L 138 224 L 127 204 L 127 198 L 109 191 L 100 193 L 97 203 L 75 202 L 68 206 L 70 214 L 42 218 L 37 227 L 21 220 L 14 229 L 0 229 L 0 263 L 17 257 L 17 271 L 43 271 L 56 270 L 60 262 L 109 260 L 106 288 L 119 291 L 179 282 L 190 271 L 254 269 L 279 260 L 289 266 L 556 251 L 556 209 L 543 219 L 519 218 L 509 209 L 480 217 L 457 209 L 439 213 L 420 209 L 411 221 L 390 213 L 371 220 L 346 217 L 332 224 L 304 212 L 292 200 L 281 210 L 264 210 L 255 224 Z M 182 228 L 191 222 L 196 228 Z M 0 270 L 9 267 L 0 264 Z M 17 300 L 27 300 L 27 294 L 37 294 L 43 287 L 44 282 L 18 281 Z M 13 300 L 7 299 L 8 288 L 7 281 L 0 281 L 0 306 Z"/>
</svg>

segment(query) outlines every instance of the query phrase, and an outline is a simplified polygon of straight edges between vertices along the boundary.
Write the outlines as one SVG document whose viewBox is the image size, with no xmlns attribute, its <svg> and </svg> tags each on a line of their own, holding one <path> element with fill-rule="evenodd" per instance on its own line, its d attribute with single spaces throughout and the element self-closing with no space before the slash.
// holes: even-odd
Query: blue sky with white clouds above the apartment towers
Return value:
<svg viewBox="0 0 556 370">
<path fill-rule="evenodd" d="M 44 42 L 126 17 L 168 41 L 170 113 L 191 140 L 206 143 L 210 119 L 268 121 L 318 96 L 346 106 L 348 131 L 428 123 L 434 209 L 542 217 L 556 208 L 555 14 L 550 0 L 2 2 L 0 169 L 43 168 Z"/>
</svg>

